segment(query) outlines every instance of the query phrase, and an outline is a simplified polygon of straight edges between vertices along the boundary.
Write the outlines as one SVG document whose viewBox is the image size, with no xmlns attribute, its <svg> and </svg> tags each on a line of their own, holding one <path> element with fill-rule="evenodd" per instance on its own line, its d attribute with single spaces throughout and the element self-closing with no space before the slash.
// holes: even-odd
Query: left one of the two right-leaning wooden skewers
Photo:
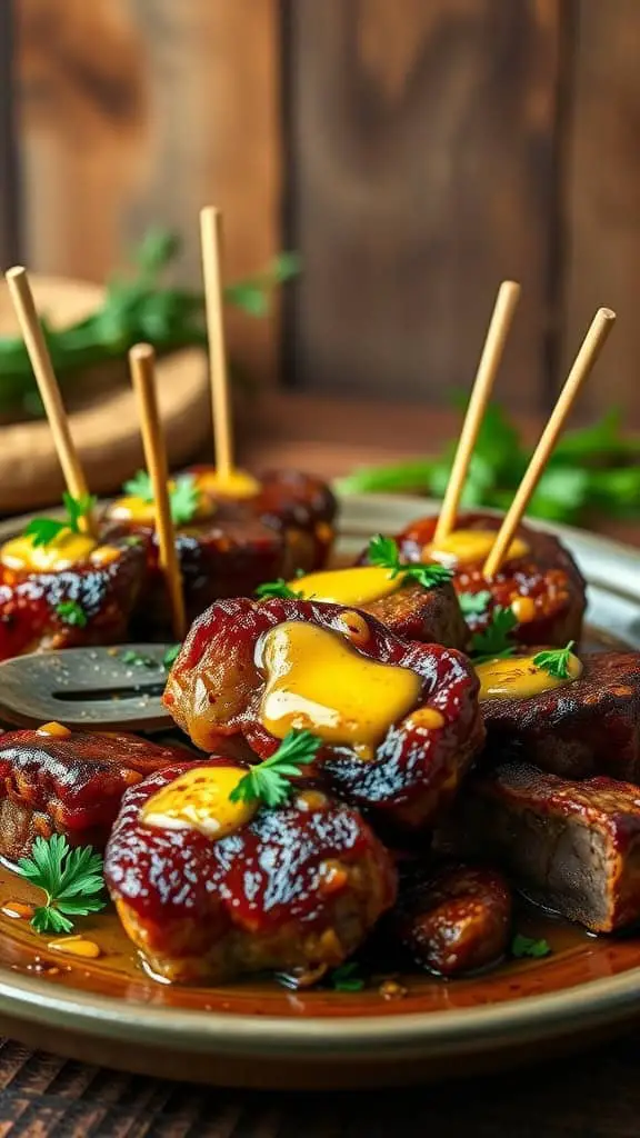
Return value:
<svg viewBox="0 0 640 1138">
<path fill-rule="evenodd" d="M 504 344 L 519 295 L 520 286 L 516 281 L 502 281 L 498 289 L 493 314 L 474 380 L 471 397 L 458 442 L 458 450 L 456 451 L 446 493 L 440 511 L 440 518 L 437 519 L 434 544 L 444 541 L 456 526 L 460 495 L 462 494 L 471 454 L 486 411 L 486 404 L 489 403 L 498 368 L 502 360 Z"/>
</svg>

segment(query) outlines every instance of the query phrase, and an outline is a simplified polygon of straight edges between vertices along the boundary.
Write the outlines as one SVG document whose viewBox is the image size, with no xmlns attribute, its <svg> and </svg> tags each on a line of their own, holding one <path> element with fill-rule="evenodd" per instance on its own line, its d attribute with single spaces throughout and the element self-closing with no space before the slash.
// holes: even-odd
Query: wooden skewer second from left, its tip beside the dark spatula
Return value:
<svg viewBox="0 0 640 1138">
<path fill-rule="evenodd" d="M 154 492 L 159 564 L 166 580 L 173 633 L 177 640 L 182 641 L 187 632 L 184 594 L 182 592 L 180 562 L 175 549 L 175 530 L 173 518 L 171 517 L 166 450 L 155 382 L 155 352 L 150 344 L 137 344 L 132 347 L 129 353 L 129 364 L 140 410 L 145 462 L 149 471 Z"/>
</svg>

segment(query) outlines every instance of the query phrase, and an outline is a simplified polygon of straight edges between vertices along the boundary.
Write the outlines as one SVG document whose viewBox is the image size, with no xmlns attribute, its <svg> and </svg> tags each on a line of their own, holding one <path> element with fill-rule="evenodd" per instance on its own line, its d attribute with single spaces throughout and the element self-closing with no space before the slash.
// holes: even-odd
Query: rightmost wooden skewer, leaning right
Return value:
<svg viewBox="0 0 640 1138">
<path fill-rule="evenodd" d="M 591 323 L 591 328 L 584 337 L 580 352 L 577 353 L 574 364 L 568 373 L 565 386 L 558 396 L 558 402 L 551 412 L 549 422 L 540 436 L 540 442 L 533 452 L 531 462 L 516 492 L 516 496 L 502 520 L 500 529 L 498 530 L 491 553 L 489 554 L 483 567 L 483 575 L 485 577 L 493 577 L 500 569 L 500 566 L 502 564 L 502 561 L 504 560 L 514 539 L 520 518 L 523 517 L 530 503 L 531 496 L 544 472 L 544 467 L 547 465 L 551 452 L 556 446 L 558 436 L 565 424 L 565 420 L 572 410 L 584 380 L 589 376 L 593 364 L 602 351 L 605 341 L 614 327 L 615 319 L 616 314 L 615 312 L 612 312 L 610 308 L 598 308 L 598 312 Z"/>
</svg>

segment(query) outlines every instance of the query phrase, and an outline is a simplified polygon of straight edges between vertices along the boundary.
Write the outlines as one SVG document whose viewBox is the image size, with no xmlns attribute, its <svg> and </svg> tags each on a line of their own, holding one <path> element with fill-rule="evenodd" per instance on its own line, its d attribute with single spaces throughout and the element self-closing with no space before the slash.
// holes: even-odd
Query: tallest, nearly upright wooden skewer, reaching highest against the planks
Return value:
<svg viewBox="0 0 640 1138">
<path fill-rule="evenodd" d="M 200 211 L 200 242 L 205 281 L 215 465 L 221 480 L 224 480 L 233 470 L 233 428 L 224 340 L 222 214 L 215 206 L 205 206 Z"/>
</svg>

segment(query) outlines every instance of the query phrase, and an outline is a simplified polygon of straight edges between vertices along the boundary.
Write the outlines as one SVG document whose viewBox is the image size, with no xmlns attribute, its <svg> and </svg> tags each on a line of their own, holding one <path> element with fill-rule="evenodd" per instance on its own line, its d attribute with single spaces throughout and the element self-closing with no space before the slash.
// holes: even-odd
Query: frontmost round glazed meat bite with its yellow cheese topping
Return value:
<svg viewBox="0 0 640 1138">
<path fill-rule="evenodd" d="M 393 905 L 391 858 L 318 790 L 277 810 L 231 801 L 247 768 L 229 761 L 177 764 L 126 792 L 105 859 L 120 918 L 165 980 L 320 975 Z"/>
</svg>

